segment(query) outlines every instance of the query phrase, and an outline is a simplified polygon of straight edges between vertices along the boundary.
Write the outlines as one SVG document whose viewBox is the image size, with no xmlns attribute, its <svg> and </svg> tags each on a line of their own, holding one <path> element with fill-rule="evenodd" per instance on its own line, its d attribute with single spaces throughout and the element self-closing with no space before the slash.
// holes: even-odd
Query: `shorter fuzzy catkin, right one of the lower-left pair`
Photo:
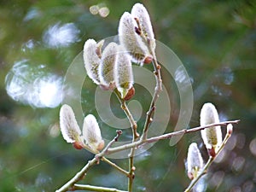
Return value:
<svg viewBox="0 0 256 192">
<path fill-rule="evenodd" d="M 84 118 L 83 137 L 86 144 L 93 150 L 102 150 L 104 148 L 100 127 L 92 114 L 88 114 Z"/>
</svg>

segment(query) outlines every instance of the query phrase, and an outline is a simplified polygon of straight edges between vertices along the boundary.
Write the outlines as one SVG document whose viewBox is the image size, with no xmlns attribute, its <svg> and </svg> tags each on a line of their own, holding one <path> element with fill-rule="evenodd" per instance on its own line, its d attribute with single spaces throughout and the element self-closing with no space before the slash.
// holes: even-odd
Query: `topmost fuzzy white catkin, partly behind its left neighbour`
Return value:
<svg viewBox="0 0 256 192">
<path fill-rule="evenodd" d="M 151 49 L 154 51 L 154 32 L 147 9 L 143 6 L 142 3 L 136 3 L 131 9 L 131 15 L 139 20 L 144 34 L 150 40 Z"/>
</svg>

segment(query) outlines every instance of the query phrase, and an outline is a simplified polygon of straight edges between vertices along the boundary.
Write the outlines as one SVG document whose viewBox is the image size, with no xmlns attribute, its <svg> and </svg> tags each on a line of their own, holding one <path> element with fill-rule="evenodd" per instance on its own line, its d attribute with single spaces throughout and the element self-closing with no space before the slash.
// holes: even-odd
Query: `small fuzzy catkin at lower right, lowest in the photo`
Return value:
<svg viewBox="0 0 256 192">
<path fill-rule="evenodd" d="M 191 143 L 189 145 L 188 151 L 188 177 L 192 180 L 197 177 L 198 173 L 201 171 L 203 167 L 203 160 L 201 157 L 200 150 L 197 148 L 196 143 Z"/>
</svg>

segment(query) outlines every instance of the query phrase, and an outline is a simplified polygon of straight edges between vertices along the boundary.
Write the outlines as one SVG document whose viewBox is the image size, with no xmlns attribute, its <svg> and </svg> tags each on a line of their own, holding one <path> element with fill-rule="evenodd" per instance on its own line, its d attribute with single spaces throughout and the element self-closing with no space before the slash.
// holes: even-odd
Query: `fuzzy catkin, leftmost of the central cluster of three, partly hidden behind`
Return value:
<svg viewBox="0 0 256 192">
<path fill-rule="evenodd" d="M 98 67 L 101 61 L 102 45 L 103 42 L 96 44 L 94 39 L 88 39 L 84 44 L 84 67 L 95 84 L 100 84 Z"/>
</svg>

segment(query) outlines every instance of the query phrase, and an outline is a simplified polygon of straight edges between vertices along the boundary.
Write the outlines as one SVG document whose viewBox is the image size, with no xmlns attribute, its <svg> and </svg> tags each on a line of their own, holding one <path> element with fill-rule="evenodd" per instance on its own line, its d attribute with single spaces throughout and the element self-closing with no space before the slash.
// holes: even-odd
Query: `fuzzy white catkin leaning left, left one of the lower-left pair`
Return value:
<svg viewBox="0 0 256 192">
<path fill-rule="evenodd" d="M 60 111 L 60 126 L 62 137 L 67 143 L 79 141 L 81 130 L 78 122 L 75 119 L 73 109 L 67 104 L 62 105 Z"/>
</svg>

